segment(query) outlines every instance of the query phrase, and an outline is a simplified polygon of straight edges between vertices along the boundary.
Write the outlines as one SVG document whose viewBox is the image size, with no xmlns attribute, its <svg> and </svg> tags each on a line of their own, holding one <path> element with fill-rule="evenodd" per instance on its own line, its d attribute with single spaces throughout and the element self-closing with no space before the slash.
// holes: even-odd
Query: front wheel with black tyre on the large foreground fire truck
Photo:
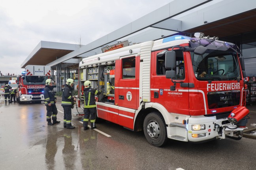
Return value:
<svg viewBox="0 0 256 170">
<path fill-rule="evenodd" d="M 146 116 L 143 123 L 144 135 L 147 141 L 154 146 L 160 147 L 167 142 L 166 123 L 162 115 L 152 112 Z"/>
</svg>

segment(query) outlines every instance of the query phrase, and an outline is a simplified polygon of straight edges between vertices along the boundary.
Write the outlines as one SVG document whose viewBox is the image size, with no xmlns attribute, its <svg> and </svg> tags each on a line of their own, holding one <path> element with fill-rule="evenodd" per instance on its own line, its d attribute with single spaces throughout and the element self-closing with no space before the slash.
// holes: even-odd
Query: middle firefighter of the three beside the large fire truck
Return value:
<svg viewBox="0 0 256 170">
<path fill-rule="evenodd" d="M 68 78 L 62 93 L 61 105 L 64 109 L 64 127 L 67 129 L 75 129 L 75 127 L 71 124 L 71 108 L 73 106 L 72 102 L 75 101 L 75 97 L 72 96 L 73 85 L 74 80 L 72 78 Z"/>
</svg>

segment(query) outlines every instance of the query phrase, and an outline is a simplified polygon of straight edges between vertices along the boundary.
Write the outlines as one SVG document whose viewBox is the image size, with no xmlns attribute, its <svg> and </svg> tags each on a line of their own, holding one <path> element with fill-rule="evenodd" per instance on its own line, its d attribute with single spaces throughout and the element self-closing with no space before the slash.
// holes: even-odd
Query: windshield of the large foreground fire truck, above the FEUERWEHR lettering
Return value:
<svg viewBox="0 0 256 170">
<path fill-rule="evenodd" d="M 207 50 L 203 55 L 192 52 L 192 64 L 198 80 L 240 80 L 237 53 L 232 50 Z"/>
</svg>

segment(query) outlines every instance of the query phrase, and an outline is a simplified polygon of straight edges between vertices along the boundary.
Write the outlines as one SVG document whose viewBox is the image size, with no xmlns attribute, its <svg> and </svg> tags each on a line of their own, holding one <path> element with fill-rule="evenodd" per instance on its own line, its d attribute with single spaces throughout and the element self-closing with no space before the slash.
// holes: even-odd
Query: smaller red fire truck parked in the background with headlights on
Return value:
<svg viewBox="0 0 256 170">
<path fill-rule="evenodd" d="M 27 65 L 25 71 L 17 77 L 17 101 L 41 102 L 45 81 L 51 76 L 51 67 L 45 65 Z"/>
</svg>

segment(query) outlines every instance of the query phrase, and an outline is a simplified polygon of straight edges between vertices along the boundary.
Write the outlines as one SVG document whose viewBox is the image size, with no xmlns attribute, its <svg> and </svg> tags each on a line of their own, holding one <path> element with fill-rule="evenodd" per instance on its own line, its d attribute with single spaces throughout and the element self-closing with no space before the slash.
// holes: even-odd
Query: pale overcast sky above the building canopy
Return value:
<svg viewBox="0 0 256 170">
<path fill-rule="evenodd" d="M 172 0 L 0 0 L 0 71 L 20 74 L 40 43 L 86 45 Z"/>
</svg>

